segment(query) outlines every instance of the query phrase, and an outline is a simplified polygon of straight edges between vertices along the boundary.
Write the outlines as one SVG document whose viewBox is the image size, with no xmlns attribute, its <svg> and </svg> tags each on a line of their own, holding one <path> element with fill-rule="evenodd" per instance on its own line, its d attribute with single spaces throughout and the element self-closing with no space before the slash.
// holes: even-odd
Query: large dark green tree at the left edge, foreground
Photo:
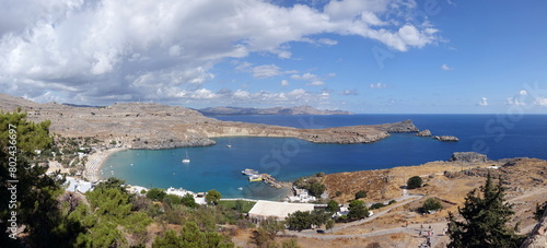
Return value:
<svg viewBox="0 0 547 248">
<path fill-rule="evenodd" d="M 50 121 L 31 122 L 26 113 L 0 113 L 0 188 L 16 187 L 16 200 L 11 190 L 0 190 L 0 229 L 9 229 L 8 220 L 16 219 L 18 226 L 25 225 L 25 243 L 28 246 L 71 247 L 81 232 L 78 222 L 68 220 L 57 198 L 63 192 L 62 177 L 46 175 L 47 167 L 32 166 L 35 150 L 48 150 L 53 139 L 49 135 Z M 12 184 L 9 180 L 18 180 Z M 16 215 L 12 215 L 12 211 Z M 10 229 L 11 231 L 11 229 Z M 0 244 L 18 246 L 10 238 L 11 233 L 0 235 Z"/>
</svg>

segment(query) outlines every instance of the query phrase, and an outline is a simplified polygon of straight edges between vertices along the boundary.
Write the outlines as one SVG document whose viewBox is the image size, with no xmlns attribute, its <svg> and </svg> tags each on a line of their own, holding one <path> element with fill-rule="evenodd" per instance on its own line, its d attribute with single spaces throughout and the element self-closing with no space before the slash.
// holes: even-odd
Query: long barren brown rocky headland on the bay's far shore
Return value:
<svg viewBox="0 0 547 248">
<path fill-rule="evenodd" d="M 93 137 L 117 141 L 130 149 L 170 149 L 214 144 L 218 137 L 288 137 L 315 143 L 370 143 L 389 132 L 417 132 L 412 121 L 376 126 L 327 129 L 220 121 L 200 113 L 150 103 L 124 103 L 107 107 L 74 107 L 56 103 L 37 104 L 22 97 L 0 94 L 0 109 L 18 107 L 32 121 L 51 120 L 50 131 L 63 137 Z"/>
</svg>

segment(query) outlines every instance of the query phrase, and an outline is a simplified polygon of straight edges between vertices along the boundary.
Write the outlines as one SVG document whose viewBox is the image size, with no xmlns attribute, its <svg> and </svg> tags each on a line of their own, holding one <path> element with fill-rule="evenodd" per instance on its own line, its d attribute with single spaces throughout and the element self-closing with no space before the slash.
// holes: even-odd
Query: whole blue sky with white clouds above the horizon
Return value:
<svg viewBox="0 0 547 248">
<path fill-rule="evenodd" d="M 39 103 L 547 114 L 547 2 L 2 0 L 0 92 Z"/>
</svg>

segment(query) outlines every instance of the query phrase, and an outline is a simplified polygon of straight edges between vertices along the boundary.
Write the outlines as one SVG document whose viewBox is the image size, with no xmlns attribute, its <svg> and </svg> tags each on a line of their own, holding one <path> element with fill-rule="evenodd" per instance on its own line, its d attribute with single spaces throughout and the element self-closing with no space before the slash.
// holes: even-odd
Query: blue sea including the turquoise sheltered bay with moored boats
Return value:
<svg viewBox="0 0 547 248">
<path fill-rule="evenodd" d="M 245 168 L 278 180 L 316 173 L 341 173 L 420 165 L 447 161 L 454 152 L 478 152 L 490 160 L 547 160 L 547 115 L 333 115 L 333 116 L 214 116 L 245 121 L 318 129 L 379 125 L 410 119 L 433 135 L 455 135 L 459 142 L 440 142 L 416 133 L 392 133 L 370 144 L 314 144 L 293 138 L 218 138 L 216 145 L 171 150 L 127 150 L 110 155 L 102 178 L 118 177 L 147 188 L 216 189 L 222 198 L 280 200 L 288 189 L 249 182 Z M 190 163 L 182 163 L 188 158 Z M 350 182 L 348 182 L 350 184 Z"/>
</svg>

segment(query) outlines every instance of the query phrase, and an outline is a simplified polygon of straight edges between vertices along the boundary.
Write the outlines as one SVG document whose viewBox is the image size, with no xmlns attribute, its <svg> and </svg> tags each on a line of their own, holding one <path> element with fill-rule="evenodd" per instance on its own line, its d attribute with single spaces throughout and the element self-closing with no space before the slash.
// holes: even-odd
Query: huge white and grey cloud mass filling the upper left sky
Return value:
<svg viewBox="0 0 547 248">
<path fill-rule="evenodd" d="M 331 0 L 317 9 L 265 0 L 7 0 L 0 8 L 0 86 L 88 104 L 212 99 L 218 93 L 203 84 L 214 79 L 217 63 L 252 52 L 291 58 L 287 44 L 313 35 L 357 35 L 399 51 L 437 43 L 437 28 L 401 17 L 416 12 L 412 2 Z M 257 79 L 284 73 L 275 64 L 238 68 Z"/>
</svg>

